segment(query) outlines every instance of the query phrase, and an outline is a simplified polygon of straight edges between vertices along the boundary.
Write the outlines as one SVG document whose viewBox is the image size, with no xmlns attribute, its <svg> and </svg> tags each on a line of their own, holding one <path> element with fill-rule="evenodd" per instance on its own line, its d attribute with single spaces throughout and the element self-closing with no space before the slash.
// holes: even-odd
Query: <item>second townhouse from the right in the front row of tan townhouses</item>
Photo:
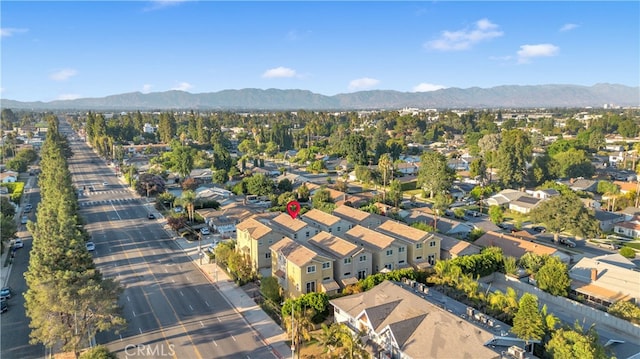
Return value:
<svg viewBox="0 0 640 359">
<path fill-rule="evenodd" d="M 409 265 L 407 245 L 391 236 L 356 225 L 345 233 L 344 238 L 371 252 L 373 273 L 378 273 L 383 268 L 394 270 Z"/>
</svg>

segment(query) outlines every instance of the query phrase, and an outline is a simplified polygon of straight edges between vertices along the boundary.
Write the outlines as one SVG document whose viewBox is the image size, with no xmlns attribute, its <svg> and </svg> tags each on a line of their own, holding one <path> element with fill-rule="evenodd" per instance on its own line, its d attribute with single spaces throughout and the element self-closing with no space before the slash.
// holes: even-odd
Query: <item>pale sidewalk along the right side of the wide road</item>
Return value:
<svg viewBox="0 0 640 359">
<path fill-rule="evenodd" d="M 291 352 L 291 348 L 286 343 L 287 334 L 256 304 L 253 298 L 239 288 L 225 271 L 219 269 L 216 264 L 209 263 L 208 257 L 203 257 L 200 264 L 197 241 L 189 242 L 182 237 L 177 237 L 175 241 L 209 281 L 220 290 L 227 303 L 242 315 L 244 321 L 251 326 L 264 345 L 268 346 L 277 358 L 289 358 L 288 353 Z M 205 248 L 210 242 L 210 239 L 203 240 L 201 247 Z"/>
</svg>

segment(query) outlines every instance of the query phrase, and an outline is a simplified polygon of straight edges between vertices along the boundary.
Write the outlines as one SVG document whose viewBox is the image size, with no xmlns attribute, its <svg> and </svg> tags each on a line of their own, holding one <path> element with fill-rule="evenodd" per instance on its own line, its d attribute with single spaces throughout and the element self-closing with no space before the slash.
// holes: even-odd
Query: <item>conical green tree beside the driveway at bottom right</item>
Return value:
<svg viewBox="0 0 640 359">
<path fill-rule="evenodd" d="M 531 293 L 525 293 L 520 297 L 518 312 L 513 317 L 511 332 L 527 343 L 531 340 L 542 339 L 544 322 L 538 310 L 538 297 Z"/>
</svg>

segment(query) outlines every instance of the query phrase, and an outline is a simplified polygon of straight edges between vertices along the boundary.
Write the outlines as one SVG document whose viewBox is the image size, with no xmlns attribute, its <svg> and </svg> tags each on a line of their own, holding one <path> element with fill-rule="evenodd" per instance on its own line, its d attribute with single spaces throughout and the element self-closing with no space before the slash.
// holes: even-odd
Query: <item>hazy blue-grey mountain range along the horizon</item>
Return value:
<svg viewBox="0 0 640 359">
<path fill-rule="evenodd" d="M 550 108 L 640 106 L 640 87 L 617 84 L 446 88 L 430 92 L 360 91 L 325 96 L 306 90 L 240 89 L 192 94 L 132 92 L 50 102 L 1 99 L 2 108 L 28 110 L 368 110 L 414 108 Z"/>
</svg>

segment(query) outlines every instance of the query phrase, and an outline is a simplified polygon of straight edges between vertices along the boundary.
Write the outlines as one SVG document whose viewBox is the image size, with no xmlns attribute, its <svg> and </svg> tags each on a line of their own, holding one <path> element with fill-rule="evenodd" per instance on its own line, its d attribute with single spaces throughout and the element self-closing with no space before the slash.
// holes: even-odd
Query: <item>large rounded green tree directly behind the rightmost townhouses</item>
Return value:
<svg viewBox="0 0 640 359">
<path fill-rule="evenodd" d="M 418 169 L 418 186 L 433 198 L 436 193 L 443 193 L 451 188 L 455 172 L 447 165 L 447 158 L 439 152 L 425 152 L 420 157 Z"/>
</svg>

